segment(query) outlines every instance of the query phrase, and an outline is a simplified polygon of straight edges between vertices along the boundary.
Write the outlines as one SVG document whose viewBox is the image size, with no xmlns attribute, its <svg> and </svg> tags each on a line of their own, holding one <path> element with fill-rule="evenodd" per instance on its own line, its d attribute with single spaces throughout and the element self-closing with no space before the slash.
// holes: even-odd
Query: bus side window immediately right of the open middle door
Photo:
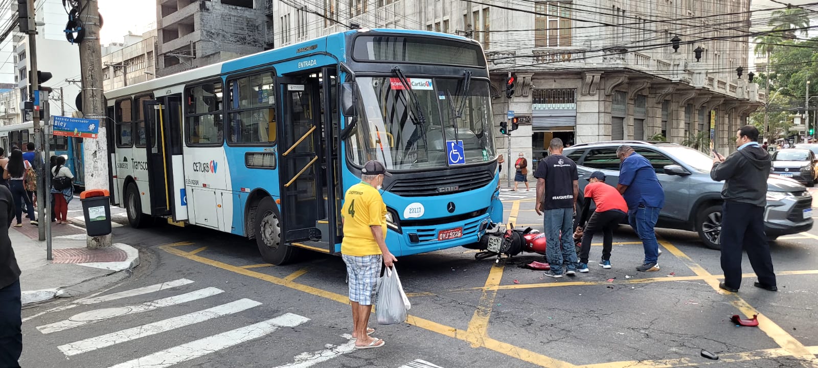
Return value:
<svg viewBox="0 0 818 368">
<path fill-rule="evenodd" d="M 224 142 L 222 81 L 186 89 L 185 141 L 187 146 L 220 146 Z"/>
</svg>

